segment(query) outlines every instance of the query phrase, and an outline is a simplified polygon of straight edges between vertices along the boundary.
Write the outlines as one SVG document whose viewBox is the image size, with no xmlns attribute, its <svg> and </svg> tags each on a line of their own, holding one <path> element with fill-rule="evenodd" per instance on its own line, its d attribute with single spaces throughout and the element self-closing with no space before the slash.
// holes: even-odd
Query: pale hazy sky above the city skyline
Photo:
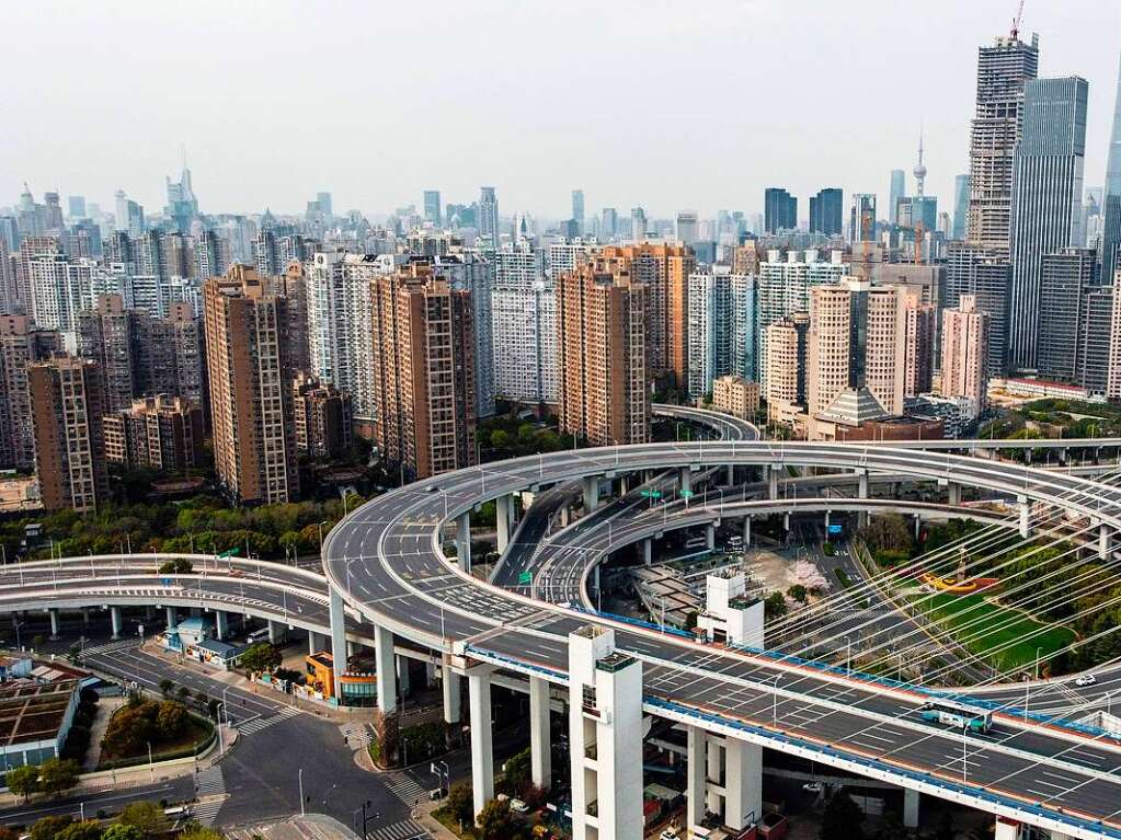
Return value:
<svg viewBox="0 0 1121 840">
<path fill-rule="evenodd" d="M 976 48 L 1016 0 L 9 0 L 0 205 L 27 180 L 157 211 L 185 144 L 203 212 L 469 202 L 566 216 L 758 212 L 767 186 L 874 192 L 914 166 L 951 209 Z M 1119 0 L 1027 0 L 1040 75 L 1090 82 L 1104 177 Z M 908 187 L 910 177 L 908 175 Z M 886 216 L 886 212 L 880 215 Z"/>
</svg>

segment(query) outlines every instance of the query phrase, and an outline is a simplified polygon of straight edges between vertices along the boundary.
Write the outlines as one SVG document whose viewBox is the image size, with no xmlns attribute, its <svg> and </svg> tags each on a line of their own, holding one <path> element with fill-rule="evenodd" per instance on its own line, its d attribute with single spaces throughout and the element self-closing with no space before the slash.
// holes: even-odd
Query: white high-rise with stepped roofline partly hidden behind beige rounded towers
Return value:
<svg viewBox="0 0 1121 840">
<path fill-rule="evenodd" d="M 828 261 L 819 259 L 817 250 L 790 251 L 786 259 L 781 252 L 767 252 L 767 260 L 759 263 L 756 330 L 759 336 L 757 358 L 767 358 L 767 327 L 795 312 L 809 310 L 809 290 L 816 286 L 833 286 L 849 274 L 849 264 L 842 252 L 833 251 Z M 767 367 L 760 371 L 767 384 Z"/>
</svg>

